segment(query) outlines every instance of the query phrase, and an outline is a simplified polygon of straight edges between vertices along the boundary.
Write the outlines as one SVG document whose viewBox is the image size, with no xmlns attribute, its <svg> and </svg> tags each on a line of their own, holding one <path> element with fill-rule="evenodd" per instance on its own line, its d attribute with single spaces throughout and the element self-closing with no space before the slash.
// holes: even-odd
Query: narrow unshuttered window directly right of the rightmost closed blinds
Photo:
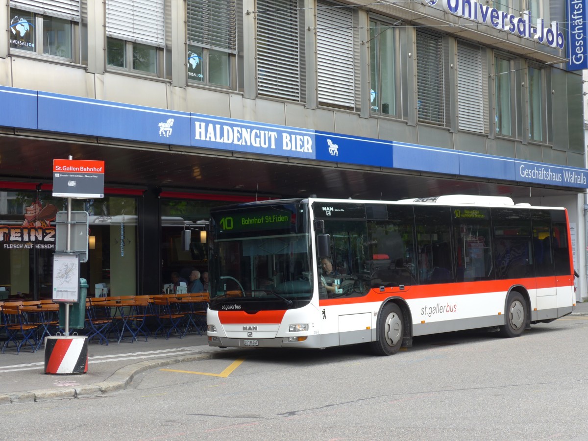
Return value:
<svg viewBox="0 0 588 441">
<path fill-rule="evenodd" d="M 494 86 L 496 108 L 496 135 L 513 136 L 514 95 L 513 61 L 500 56 L 494 58 Z"/>
</svg>

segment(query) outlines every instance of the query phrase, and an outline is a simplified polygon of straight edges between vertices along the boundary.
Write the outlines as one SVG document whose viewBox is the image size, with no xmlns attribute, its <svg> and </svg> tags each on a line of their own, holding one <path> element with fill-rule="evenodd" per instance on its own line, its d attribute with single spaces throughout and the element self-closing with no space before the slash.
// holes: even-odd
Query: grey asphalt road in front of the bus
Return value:
<svg viewBox="0 0 588 441">
<path fill-rule="evenodd" d="M 6 440 L 586 440 L 588 316 L 520 338 L 460 332 L 390 357 L 252 350 L 121 392 L 0 406 Z"/>
</svg>

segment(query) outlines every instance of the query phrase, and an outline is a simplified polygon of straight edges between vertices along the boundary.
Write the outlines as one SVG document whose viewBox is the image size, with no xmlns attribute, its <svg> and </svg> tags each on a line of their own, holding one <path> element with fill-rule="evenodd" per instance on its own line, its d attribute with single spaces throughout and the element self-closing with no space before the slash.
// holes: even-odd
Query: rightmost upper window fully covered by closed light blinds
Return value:
<svg viewBox="0 0 588 441">
<path fill-rule="evenodd" d="M 459 129 L 485 132 L 487 93 L 482 85 L 482 49 L 457 42 L 457 118 Z M 486 105 L 481 106 L 480 101 Z"/>
</svg>

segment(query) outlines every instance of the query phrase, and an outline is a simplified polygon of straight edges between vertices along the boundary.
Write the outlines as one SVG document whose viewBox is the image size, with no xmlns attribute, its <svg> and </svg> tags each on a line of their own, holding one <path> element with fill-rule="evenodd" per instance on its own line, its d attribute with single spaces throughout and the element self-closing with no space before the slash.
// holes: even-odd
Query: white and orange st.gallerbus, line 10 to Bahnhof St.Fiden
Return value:
<svg viewBox="0 0 588 441">
<path fill-rule="evenodd" d="M 390 355 L 433 333 L 516 337 L 575 306 L 563 208 L 311 197 L 213 209 L 210 228 L 211 346 Z"/>
</svg>

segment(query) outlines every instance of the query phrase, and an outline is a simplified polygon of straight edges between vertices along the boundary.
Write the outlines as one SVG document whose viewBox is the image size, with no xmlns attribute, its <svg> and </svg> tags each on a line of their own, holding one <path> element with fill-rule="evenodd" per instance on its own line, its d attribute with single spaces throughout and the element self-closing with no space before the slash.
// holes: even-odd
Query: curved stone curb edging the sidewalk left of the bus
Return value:
<svg viewBox="0 0 588 441">
<path fill-rule="evenodd" d="M 39 389 L 25 390 L 23 392 L 0 393 L 0 405 L 9 403 L 32 403 L 45 400 L 55 400 L 61 398 L 78 398 L 81 396 L 100 396 L 106 393 L 118 392 L 126 389 L 131 384 L 133 378 L 139 373 L 146 370 L 161 368 L 162 366 L 175 365 L 182 362 L 195 362 L 198 360 L 210 360 L 215 358 L 225 358 L 226 356 L 243 353 L 240 349 L 226 350 L 211 353 L 201 353 L 195 355 L 186 355 L 182 357 L 166 358 L 159 360 L 146 360 L 133 365 L 124 366 L 116 370 L 108 379 L 91 385 L 81 385 L 76 387 L 62 387 L 59 389 Z"/>
</svg>

